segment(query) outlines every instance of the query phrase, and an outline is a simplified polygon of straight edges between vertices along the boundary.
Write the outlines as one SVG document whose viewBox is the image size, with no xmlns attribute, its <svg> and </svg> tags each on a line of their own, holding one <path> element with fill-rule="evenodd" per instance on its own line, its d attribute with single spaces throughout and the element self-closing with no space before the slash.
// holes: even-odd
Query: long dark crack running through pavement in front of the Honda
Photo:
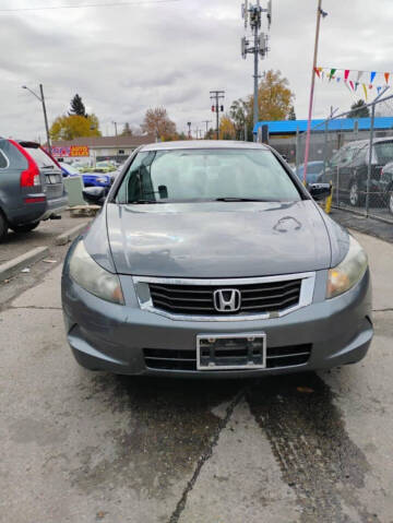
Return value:
<svg viewBox="0 0 393 523">
<path fill-rule="evenodd" d="M 221 420 L 221 423 L 218 424 L 218 427 L 214 433 L 214 437 L 211 441 L 211 444 L 209 445 L 209 449 L 200 456 L 200 459 L 198 460 L 198 464 L 196 464 L 196 467 L 195 467 L 195 471 L 191 477 L 191 479 L 188 482 L 182 495 L 181 495 L 181 498 L 180 500 L 178 501 L 177 506 L 176 506 L 176 509 L 175 511 L 172 512 L 168 523 L 178 523 L 179 519 L 180 519 L 180 515 L 182 513 L 182 511 L 184 510 L 186 508 L 186 503 L 187 503 L 187 498 L 188 498 L 188 495 L 191 492 L 191 490 L 193 489 L 196 480 L 198 480 L 198 477 L 202 471 L 202 467 L 203 465 L 206 463 L 206 461 L 209 461 L 212 455 L 213 455 L 213 449 L 214 447 L 216 447 L 216 444 L 218 443 L 218 439 L 219 439 L 219 435 L 222 433 L 222 431 L 225 429 L 225 427 L 228 425 L 228 421 L 230 419 L 230 416 L 233 415 L 236 406 L 239 404 L 240 400 L 242 397 L 245 397 L 246 395 L 246 389 L 242 389 L 240 390 L 235 399 L 229 403 L 227 409 L 226 409 L 226 414 L 225 414 L 225 417 Z"/>
</svg>

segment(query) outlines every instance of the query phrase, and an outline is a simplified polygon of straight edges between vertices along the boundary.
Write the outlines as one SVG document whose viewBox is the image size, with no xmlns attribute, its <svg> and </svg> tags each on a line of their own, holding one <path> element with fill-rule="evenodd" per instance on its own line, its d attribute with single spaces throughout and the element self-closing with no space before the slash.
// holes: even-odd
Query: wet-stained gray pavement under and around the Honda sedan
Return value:
<svg viewBox="0 0 393 523">
<path fill-rule="evenodd" d="M 392 523 L 393 246 L 356 236 L 376 336 L 365 360 L 330 372 L 92 373 L 66 342 L 60 266 L 4 302 L 0 521 Z"/>
</svg>

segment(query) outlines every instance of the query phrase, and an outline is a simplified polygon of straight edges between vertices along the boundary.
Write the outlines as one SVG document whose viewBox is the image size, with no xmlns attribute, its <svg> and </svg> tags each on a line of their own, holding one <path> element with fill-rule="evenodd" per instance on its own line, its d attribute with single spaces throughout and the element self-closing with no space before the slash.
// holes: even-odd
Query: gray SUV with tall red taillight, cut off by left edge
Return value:
<svg viewBox="0 0 393 523">
<path fill-rule="evenodd" d="M 38 143 L 0 138 L 0 240 L 59 217 L 68 197 L 59 164 Z"/>
</svg>

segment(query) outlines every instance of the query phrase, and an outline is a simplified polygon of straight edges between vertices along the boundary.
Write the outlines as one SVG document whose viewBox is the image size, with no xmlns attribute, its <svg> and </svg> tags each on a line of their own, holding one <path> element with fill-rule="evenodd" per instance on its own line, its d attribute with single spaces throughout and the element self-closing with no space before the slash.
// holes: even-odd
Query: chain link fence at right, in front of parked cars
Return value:
<svg viewBox="0 0 393 523">
<path fill-rule="evenodd" d="M 312 127 L 307 182 L 330 182 L 332 205 L 393 224 L 393 95 Z M 306 132 L 271 140 L 303 179 Z"/>
</svg>

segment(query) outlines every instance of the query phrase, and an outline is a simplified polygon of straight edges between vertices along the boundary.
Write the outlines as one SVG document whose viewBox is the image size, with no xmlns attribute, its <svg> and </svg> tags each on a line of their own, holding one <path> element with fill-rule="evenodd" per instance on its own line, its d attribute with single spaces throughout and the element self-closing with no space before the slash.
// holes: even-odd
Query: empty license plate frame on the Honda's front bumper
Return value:
<svg viewBox="0 0 393 523">
<path fill-rule="evenodd" d="M 198 370 L 264 369 L 266 334 L 198 334 Z"/>
</svg>

